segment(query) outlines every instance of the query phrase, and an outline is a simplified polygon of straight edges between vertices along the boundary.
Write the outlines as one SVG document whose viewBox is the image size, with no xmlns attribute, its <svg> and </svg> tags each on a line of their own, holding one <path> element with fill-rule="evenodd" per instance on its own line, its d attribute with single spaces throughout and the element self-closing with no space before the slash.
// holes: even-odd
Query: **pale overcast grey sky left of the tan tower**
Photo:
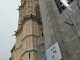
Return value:
<svg viewBox="0 0 80 60">
<path fill-rule="evenodd" d="M 12 36 L 18 25 L 20 0 L 0 0 L 0 60 L 9 60 L 16 40 Z"/>
</svg>

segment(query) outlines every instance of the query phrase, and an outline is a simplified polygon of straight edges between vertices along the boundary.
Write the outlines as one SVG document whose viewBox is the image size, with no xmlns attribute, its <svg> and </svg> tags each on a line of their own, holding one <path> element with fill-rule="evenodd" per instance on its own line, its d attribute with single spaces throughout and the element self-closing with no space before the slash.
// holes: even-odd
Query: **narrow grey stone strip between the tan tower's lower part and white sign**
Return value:
<svg viewBox="0 0 80 60">
<path fill-rule="evenodd" d="M 44 51 L 45 51 L 45 46 L 44 46 L 44 37 L 38 37 L 37 39 L 37 47 L 38 47 L 38 60 L 45 60 L 44 56 Z"/>
</svg>

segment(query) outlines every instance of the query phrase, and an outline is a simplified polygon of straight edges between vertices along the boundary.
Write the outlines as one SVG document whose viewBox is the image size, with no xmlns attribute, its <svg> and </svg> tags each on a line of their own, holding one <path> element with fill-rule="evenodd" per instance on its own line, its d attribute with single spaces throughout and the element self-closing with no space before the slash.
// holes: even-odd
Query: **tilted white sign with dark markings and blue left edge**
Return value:
<svg viewBox="0 0 80 60">
<path fill-rule="evenodd" d="M 51 46 L 47 51 L 44 52 L 45 60 L 60 60 L 62 59 L 58 42 Z"/>
</svg>

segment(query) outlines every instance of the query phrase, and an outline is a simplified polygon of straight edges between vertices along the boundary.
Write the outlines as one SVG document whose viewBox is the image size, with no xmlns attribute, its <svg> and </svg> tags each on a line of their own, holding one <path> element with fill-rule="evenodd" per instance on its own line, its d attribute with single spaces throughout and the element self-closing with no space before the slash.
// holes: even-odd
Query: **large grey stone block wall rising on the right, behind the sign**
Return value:
<svg viewBox="0 0 80 60">
<path fill-rule="evenodd" d="M 61 14 L 54 0 L 39 0 L 43 23 L 45 50 L 59 42 L 62 60 L 80 59 L 80 9 L 79 0 L 66 8 Z"/>
</svg>

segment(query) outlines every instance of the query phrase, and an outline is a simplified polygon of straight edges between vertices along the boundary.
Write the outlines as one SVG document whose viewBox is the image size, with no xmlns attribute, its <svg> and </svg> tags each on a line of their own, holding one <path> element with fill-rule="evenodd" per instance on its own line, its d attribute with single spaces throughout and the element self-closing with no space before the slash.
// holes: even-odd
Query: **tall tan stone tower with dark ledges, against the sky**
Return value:
<svg viewBox="0 0 80 60">
<path fill-rule="evenodd" d="M 21 0 L 16 44 L 10 60 L 38 60 L 37 39 L 42 37 L 38 0 Z"/>
</svg>

